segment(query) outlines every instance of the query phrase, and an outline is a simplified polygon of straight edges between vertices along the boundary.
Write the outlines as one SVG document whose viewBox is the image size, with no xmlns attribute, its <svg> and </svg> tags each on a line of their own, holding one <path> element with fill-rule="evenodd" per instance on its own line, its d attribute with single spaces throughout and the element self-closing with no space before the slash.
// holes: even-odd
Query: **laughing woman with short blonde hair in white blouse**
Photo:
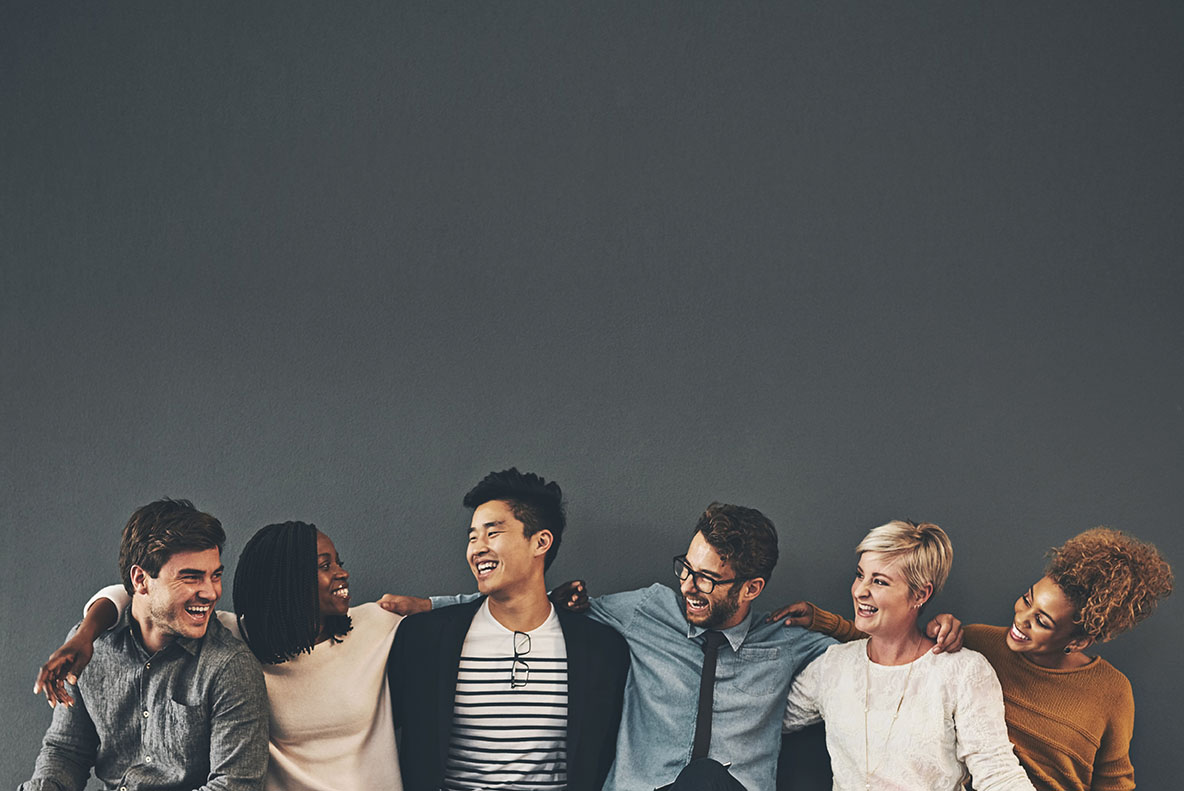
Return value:
<svg viewBox="0 0 1184 791">
<path fill-rule="evenodd" d="M 855 624 L 868 637 L 832 645 L 798 674 L 783 726 L 826 721 L 836 791 L 1032 791 L 1008 741 L 1003 694 L 971 650 L 934 654 L 918 626 L 950 574 L 937 525 L 893 521 L 856 547 Z"/>
</svg>

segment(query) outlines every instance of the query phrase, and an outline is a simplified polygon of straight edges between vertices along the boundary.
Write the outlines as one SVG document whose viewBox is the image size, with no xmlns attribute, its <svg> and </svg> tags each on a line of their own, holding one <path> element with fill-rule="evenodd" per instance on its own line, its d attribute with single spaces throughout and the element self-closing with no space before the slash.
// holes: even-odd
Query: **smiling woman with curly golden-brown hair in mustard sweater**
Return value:
<svg viewBox="0 0 1184 791">
<path fill-rule="evenodd" d="M 1133 629 L 1171 591 L 1172 570 L 1156 547 L 1099 527 L 1051 551 L 1044 577 L 1016 599 L 1010 626 L 965 628 L 965 645 L 999 677 L 1008 735 L 1037 789 L 1134 787 L 1131 683 L 1085 651 Z M 774 613 L 787 616 L 786 624 L 839 639 L 861 636 L 813 605 Z"/>
</svg>

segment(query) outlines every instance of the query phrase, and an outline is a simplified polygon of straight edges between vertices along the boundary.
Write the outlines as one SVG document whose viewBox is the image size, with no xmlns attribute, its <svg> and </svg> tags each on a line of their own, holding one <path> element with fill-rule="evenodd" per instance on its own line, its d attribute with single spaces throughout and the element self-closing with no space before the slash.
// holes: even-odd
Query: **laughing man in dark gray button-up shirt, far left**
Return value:
<svg viewBox="0 0 1184 791">
<path fill-rule="evenodd" d="M 214 617 L 221 523 L 185 500 L 131 515 L 120 573 L 131 594 L 97 636 L 77 683 L 58 695 L 33 777 L 20 791 L 81 791 L 91 769 L 108 791 L 247 791 L 268 766 L 259 663 Z"/>
</svg>

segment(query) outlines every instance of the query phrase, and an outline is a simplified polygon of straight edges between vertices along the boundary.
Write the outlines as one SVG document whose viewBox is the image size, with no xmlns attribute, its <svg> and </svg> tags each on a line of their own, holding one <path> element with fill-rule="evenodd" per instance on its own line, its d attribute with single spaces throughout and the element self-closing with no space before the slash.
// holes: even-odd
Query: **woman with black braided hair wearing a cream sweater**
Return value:
<svg viewBox="0 0 1184 791">
<path fill-rule="evenodd" d="M 263 663 L 271 705 L 265 787 L 399 791 L 386 661 L 401 616 L 373 603 L 350 607 L 332 539 L 304 522 L 268 525 L 247 541 L 233 596 L 238 615 L 218 617 Z M 63 680 L 77 677 L 94 636 L 128 603 L 122 585 L 88 602 L 83 625 L 38 676 L 51 705 L 72 702 Z"/>
</svg>

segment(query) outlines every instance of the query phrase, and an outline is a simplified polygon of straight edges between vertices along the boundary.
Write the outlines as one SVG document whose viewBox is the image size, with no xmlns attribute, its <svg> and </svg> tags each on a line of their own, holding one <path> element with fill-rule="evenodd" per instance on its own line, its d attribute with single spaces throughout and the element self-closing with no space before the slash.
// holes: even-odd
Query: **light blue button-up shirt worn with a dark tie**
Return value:
<svg viewBox="0 0 1184 791">
<path fill-rule="evenodd" d="M 471 597 L 464 597 L 471 598 Z M 433 606 L 459 598 L 432 598 Z M 629 643 L 625 708 L 605 791 L 649 791 L 690 763 L 703 630 L 683 616 L 678 594 L 654 584 L 592 599 L 588 615 Z M 749 613 L 723 632 L 715 670 L 710 758 L 731 764 L 747 791 L 773 791 L 781 718 L 793 676 L 835 641 Z"/>
</svg>

